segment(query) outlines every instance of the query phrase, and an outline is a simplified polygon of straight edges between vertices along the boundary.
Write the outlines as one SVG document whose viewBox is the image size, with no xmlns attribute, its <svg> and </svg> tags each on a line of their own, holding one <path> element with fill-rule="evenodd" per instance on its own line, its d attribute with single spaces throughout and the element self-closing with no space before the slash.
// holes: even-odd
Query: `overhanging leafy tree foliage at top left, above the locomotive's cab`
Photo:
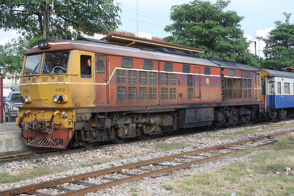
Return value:
<svg viewBox="0 0 294 196">
<path fill-rule="evenodd" d="M 30 35 L 47 34 L 46 0 L 0 0 L 0 28 Z M 52 4 L 51 4 L 52 6 Z M 57 0 L 50 11 L 51 32 L 87 35 L 107 34 L 121 24 L 121 9 L 113 0 Z M 71 32 L 70 29 L 74 32 Z"/>
</svg>

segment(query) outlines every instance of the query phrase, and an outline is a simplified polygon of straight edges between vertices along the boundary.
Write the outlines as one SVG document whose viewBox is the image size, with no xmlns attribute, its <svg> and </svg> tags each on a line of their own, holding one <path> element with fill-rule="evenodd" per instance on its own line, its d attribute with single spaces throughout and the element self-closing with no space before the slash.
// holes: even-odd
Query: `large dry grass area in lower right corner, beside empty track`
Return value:
<svg viewBox="0 0 294 196">
<path fill-rule="evenodd" d="M 281 137 L 274 145 L 260 149 L 270 150 L 251 156 L 251 163 L 236 162 L 211 173 L 199 173 L 176 184 L 177 195 L 294 195 L 294 177 L 268 175 L 269 171 L 281 173 L 286 167 L 294 169 L 294 141 Z M 240 151 L 230 156 L 242 156 L 257 150 Z M 249 174 L 252 177 L 249 177 Z"/>
</svg>

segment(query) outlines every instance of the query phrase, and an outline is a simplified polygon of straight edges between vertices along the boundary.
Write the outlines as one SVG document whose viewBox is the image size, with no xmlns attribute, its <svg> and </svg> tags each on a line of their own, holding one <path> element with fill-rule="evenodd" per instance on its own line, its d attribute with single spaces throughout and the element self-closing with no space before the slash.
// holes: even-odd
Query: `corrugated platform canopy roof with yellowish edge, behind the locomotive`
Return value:
<svg viewBox="0 0 294 196">
<path fill-rule="evenodd" d="M 170 48 L 191 53 L 205 53 L 205 50 L 183 45 L 168 43 L 162 38 L 153 37 L 151 39 L 137 37 L 135 33 L 127 31 L 114 31 L 101 40 L 107 41 L 113 45 L 128 46 L 132 48 Z"/>
</svg>

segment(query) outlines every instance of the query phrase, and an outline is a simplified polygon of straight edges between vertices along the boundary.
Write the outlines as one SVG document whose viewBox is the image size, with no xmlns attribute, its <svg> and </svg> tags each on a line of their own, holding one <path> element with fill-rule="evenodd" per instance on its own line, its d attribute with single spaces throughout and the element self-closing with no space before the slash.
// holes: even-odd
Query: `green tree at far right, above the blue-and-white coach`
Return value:
<svg viewBox="0 0 294 196">
<path fill-rule="evenodd" d="M 267 38 L 265 48 L 272 48 L 271 51 L 264 51 L 265 60 L 262 62 L 264 68 L 282 69 L 294 66 L 294 24 L 289 23 L 291 13 L 283 13 L 286 17 L 285 23 L 275 21 L 275 29 L 271 30 Z"/>
</svg>

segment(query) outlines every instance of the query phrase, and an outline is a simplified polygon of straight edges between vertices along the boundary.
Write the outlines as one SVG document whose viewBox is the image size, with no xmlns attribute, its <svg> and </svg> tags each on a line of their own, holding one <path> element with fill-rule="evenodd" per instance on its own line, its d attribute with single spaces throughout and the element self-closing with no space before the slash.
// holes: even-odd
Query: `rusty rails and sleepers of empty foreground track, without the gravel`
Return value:
<svg viewBox="0 0 294 196">
<path fill-rule="evenodd" d="M 211 161 L 211 160 L 216 160 L 216 159 L 220 158 L 221 156 L 227 155 L 229 153 L 245 150 L 245 149 L 248 149 L 248 148 L 255 148 L 255 147 L 271 144 L 271 143 L 276 142 L 277 140 L 267 142 L 267 143 L 263 143 L 261 145 L 246 147 L 246 148 L 243 148 L 243 149 L 228 148 L 228 147 L 232 147 L 232 146 L 242 145 L 242 144 L 245 144 L 245 143 L 248 143 L 248 142 L 260 141 L 260 140 L 265 139 L 265 138 L 271 138 L 271 137 L 287 134 L 287 133 L 290 133 L 290 132 L 291 131 L 280 132 L 280 133 L 277 133 L 277 134 L 261 136 L 261 137 L 252 138 L 252 139 L 243 140 L 243 141 L 238 141 L 238 142 L 234 142 L 234 143 L 228 143 L 228 144 L 225 144 L 225 145 L 214 146 L 214 147 L 210 147 L 210 148 L 204 148 L 204 149 L 199 149 L 199 150 L 195 150 L 195 151 L 189 151 L 189 152 L 185 152 L 185 153 L 179 153 L 179 154 L 175 154 L 175 155 L 171 155 L 171 156 L 155 158 L 155 159 L 141 161 L 141 162 L 127 164 L 127 165 L 121 165 L 121 166 L 117 166 L 117 167 L 113 167 L 113 168 L 93 171 L 93 172 L 89 172 L 89 173 L 83 173 L 83 174 L 69 176 L 69 177 L 60 178 L 60 179 L 56 179 L 56 180 L 50 180 L 50 181 L 47 181 L 47 182 L 36 183 L 36 184 L 33 184 L 33 185 L 17 187 L 17 188 L 13 188 L 13 189 L 9 189 L 9 190 L 2 190 L 2 191 L 0 191 L 0 196 L 12 196 L 12 195 L 19 195 L 19 194 L 28 194 L 28 195 L 37 195 L 37 196 L 50 196 L 49 194 L 36 191 L 36 190 L 44 189 L 44 188 L 58 189 L 58 190 L 66 192 L 66 193 L 59 194 L 58 196 L 85 195 L 88 192 L 96 192 L 98 189 L 101 190 L 101 189 L 113 187 L 115 185 L 119 185 L 119 184 L 122 184 L 122 183 L 125 183 L 125 182 L 137 181 L 137 180 L 143 179 L 144 177 L 151 177 L 151 176 L 158 175 L 158 174 L 161 174 L 161 173 L 169 173 L 169 172 L 171 172 L 173 170 L 175 171 L 175 170 L 188 168 L 191 165 L 200 164 L 200 163 L 208 162 L 208 161 Z M 221 150 L 226 150 L 226 151 L 230 151 L 230 152 L 220 153 Z M 206 158 L 201 158 L 201 159 L 196 158 L 197 154 L 203 153 L 203 152 L 208 152 L 208 151 L 217 151 L 216 153 L 218 153 L 218 155 L 211 156 L 211 157 L 206 157 Z M 188 157 L 188 156 L 193 156 L 193 158 Z M 185 161 L 179 161 L 178 163 L 181 163 L 181 164 L 178 164 L 178 165 L 158 164 L 158 163 L 161 163 L 163 161 L 172 161 L 172 160 L 177 159 L 177 158 L 185 158 L 185 160 L 190 159 L 191 161 L 186 161 L 186 162 Z M 147 171 L 146 173 L 141 173 L 141 174 L 138 174 L 138 175 L 137 174 L 121 172 L 122 169 L 134 169 L 134 168 L 139 168 L 139 167 L 150 165 L 150 164 L 160 165 L 160 166 L 166 167 L 166 168 L 162 168 L 162 169 L 158 169 L 158 170 L 146 170 L 145 169 L 145 171 Z M 144 171 L 144 169 L 141 169 L 141 170 Z M 93 177 L 106 175 L 106 174 L 112 174 L 112 173 L 119 173 L 119 174 L 130 176 L 130 177 L 126 177 L 126 178 L 122 178 L 122 179 L 118 179 L 118 180 L 115 180 L 113 178 L 104 178 L 103 177 L 106 180 L 110 180 L 110 182 L 101 183 L 101 184 L 93 184 L 93 183 L 87 183 L 87 182 L 82 181 L 83 179 L 86 179 L 86 178 L 93 178 Z M 61 184 L 64 184 L 64 183 L 73 183 L 73 184 L 78 184 L 78 185 L 86 185 L 88 187 L 81 188 L 81 189 L 78 189 L 78 190 L 71 190 L 71 189 L 66 189 L 64 187 L 57 187 L 57 185 L 61 185 Z"/>
</svg>

